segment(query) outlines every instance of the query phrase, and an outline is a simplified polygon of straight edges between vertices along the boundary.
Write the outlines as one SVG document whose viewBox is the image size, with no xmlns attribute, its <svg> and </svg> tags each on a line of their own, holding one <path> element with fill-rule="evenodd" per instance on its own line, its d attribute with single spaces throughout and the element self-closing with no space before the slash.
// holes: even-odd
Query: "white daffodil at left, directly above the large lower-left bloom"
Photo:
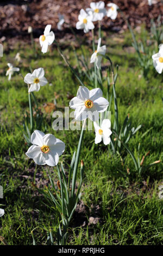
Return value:
<svg viewBox="0 0 163 256">
<path fill-rule="evenodd" d="M 28 93 L 38 92 L 40 90 L 40 86 L 45 86 L 48 83 L 47 79 L 44 77 L 45 72 L 43 68 L 35 69 L 32 74 L 28 73 L 24 77 L 24 82 L 30 84 L 30 88 Z"/>
</svg>

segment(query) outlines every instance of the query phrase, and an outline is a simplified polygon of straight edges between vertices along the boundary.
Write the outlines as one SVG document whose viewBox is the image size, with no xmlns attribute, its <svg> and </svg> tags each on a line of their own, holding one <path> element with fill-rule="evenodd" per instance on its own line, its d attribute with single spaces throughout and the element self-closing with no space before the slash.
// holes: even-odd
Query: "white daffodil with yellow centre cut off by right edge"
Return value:
<svg viewBox="0 0 163 256">
<path fill-rule="evenodd" d="M 161 74 L 163 70 L 163 44 L 159 45 L 159 52 L 153 54 L 152 59 L 154 68 Z"/>
</svg>

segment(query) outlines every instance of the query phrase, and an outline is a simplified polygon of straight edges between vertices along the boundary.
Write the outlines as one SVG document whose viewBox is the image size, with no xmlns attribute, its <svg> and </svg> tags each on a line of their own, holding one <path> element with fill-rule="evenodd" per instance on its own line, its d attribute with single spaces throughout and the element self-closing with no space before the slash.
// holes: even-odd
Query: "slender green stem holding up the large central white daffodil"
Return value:
<svg viewBox="0 0 163 256">
<path fill-rule="evenodd" d="M 86 124 L 86 119 L 83 122 L 82 126 L 82 131 L 80 133 L 80 139 L 79 139 L 79 144 L 78 144 L 78 150 L 77 150 L 77 155 L 76 155 L 76 161 L 74 163 L 74 169 L 73 169 L 73 176 L 72 176 L 72 191 L 71 191 L 71 197 L 74 196 L 74 190 L 76 187 L 76 180 L 77 180 L 77 170 L 78 170 L 78 163 L 79 163 L 79 156 L 80 156 L 80 149 L 82 146 L 82 141 L 83 141 L 83 132 Z"/>
</svg>

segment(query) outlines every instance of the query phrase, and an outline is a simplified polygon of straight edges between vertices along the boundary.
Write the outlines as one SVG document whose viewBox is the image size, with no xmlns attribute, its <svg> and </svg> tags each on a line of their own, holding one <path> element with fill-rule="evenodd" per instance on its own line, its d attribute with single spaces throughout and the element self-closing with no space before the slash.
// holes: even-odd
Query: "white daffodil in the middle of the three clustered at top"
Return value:
<svg viewBox="0 0 163 256">
<path fill-rule="evenodd" d="M 92 21 L 101 21 L 106 15 L 105 3 L 99 1 L 98 3 L 90 3 L 91 8 L 86 8 L 87 13 L 92 14 Z"/>
</svg>

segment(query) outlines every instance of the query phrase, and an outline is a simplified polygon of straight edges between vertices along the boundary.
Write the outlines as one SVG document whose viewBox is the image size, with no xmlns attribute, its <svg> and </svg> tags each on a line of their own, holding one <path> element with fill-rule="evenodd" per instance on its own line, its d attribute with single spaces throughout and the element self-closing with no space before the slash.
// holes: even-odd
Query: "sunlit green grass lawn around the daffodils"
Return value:
<svg viewBox="0 0 163 256">
<path fill-rule="evenodd" d="M 137 39 L 139 36 L 142 34 L 136 34 Z M 135 53 L 127 52 L 131 46 L 128 32 L 116 36 L 109 34 L 107 38 L 108 55 L 114 65 L 119 65 L 116 93 L 120 125 L 128 113 L 134 127 L 142 124 L 128 147 L 136 154 L 141 144 L 140 160 L 150 151 L 145 159 L 146 165 L 162 160 L 162 76 L 151 66 L 148 79 L 143 78 Z M 66 42 L 64 52 L 70 55 L 70 63 L 76 68 L 71 45 L 72 42 Z M 153 50 L 153 46 L 150 47 Z M 55 92 L 58 95 L 57 110 L 63 111 L 70 101 L 68 95 L 76 95 L 79 83 L 55 46 L 47 54 L 41 54 L 37 45 L 37 57 L 30 45 L 18 42 L 13 48 L 9 50 L 7 44 L 4 45 L 4 57 L 0 63 L 0 184 L 4 191 L 0 206 L 5 210 L 0 220 L 0 234 L 9 245 L 32 245 L 31 231 L 34 229 L 36 243 L 45 245 L 49 230 L 52 230 L 56 242 L 59 215 L 52 205 L 47 206 L 46 199 L 32 185 L 46 191 L 48 167 L 36 166 L 25 155 L 28 145 L 23 138 L 22 124 L 24 115 L 29 113 L 27 86 L 18 74 L 8 81 L 5 77 L 7 63 L 14 63 L 16 53 L 20 52 L 22 63 L 14 64 L 20 67 L 22 76 L 39 67 L 45 69 L 49 84 L 35 93 L 43 114 L 42 131 L 53 133 L 65 142 L 66 149 L 60 162 L 63 161 L 66 172 L 73 151 L 77 149 L 80 131 L 54 131 L 53 111 L 46 113 L 44 105 L 54 102 Z M 89 46 L 86 50 L 90 59 L 92 51 Z M 80 54 L 79 49 L 77 53 Z M 108 66 L 106 60 L 104 66 Z M 85 77 L 83 81 L 89 87 Z M 113 124 L 113 107 L 111 111 Z M 125 150 L 122 162 L 109 147 L 102 143 L 95 145 L 94 139 L 93 131 L 85 131 L 80 155 L 85 164 L 82 197 L 71 221 L 68 245 L 162 245 L 162 201 L 158 198 L 162 164 L 143 169 L 139 175 Z M 56 184 L 56 168 L 49 168 L 49 172 Z M 91 224 L 90 217 L 98 218 L 97 224 Z"/>
</svg>

